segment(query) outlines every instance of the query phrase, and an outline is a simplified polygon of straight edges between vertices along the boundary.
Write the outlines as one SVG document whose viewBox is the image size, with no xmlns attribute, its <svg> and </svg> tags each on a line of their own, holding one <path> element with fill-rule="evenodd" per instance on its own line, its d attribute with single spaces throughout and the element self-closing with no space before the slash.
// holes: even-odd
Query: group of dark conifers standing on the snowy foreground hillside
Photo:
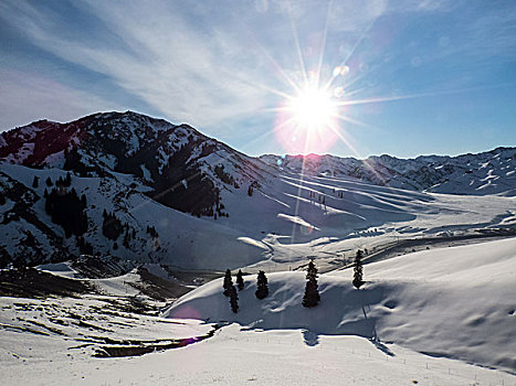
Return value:
<svg viewBox="0 0 516 386">
<path fill-rule="evenodd" d="M 364 269 L 362 269 L 362 251 L 360 249 L 357 250 L 355 256 L 354 262 L 354 277 L 352 277 L 352 285 L 359 289 L 364 283 Z M 243 274 L 242 270 L 239 269 L 236 274 L 236 286 L 239 291 L 244 289 L 244 281 L 243 281 Z M 224 281 L 223 281 L 223 293 L 224 296 L 230 298 L 231 310 L 236 313 L 239 312 L 239 294 L 236 288 L 233 285 L 233 280 L 231 278 L 231 270 L 228 268 L 225 270 Z M 262 300 L 268 296 L 268 286 L 267 286 L 267 278 L 265 272 L 261 270 L 256 277 L 256 291 L 255 296 L 257 299 Z M 305 294 L 303 296 L 303 305 L 307 308 L 313 308 L 318 304 L 320 301 L 319 288 L 317 285 L 317 267 L 314 264 L 314 260 L 308 262 L 308 268 L 306 270 L 306 286 L 305 286 Z"/>
</svg>

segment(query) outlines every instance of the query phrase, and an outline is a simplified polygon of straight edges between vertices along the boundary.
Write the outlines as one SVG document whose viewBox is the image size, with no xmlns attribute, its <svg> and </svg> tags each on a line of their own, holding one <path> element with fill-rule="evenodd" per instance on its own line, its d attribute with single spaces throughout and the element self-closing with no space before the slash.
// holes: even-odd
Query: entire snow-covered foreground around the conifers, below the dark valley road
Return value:
<svg viewBox="0 0 516 386">
<path fill-rule="evenodd" d="M 165 310 L 164 317 L 172 319 L 115 311 L 113 302 L 130 299 L 130 293 L 1 298 L 0 382 L 513 385 L 514 267 L 516 238 L 420 251 L 365 266 L 368 282 L 360 291 L 350 285 L 349 269 L 322 275 L 322 301 L 314 309 L 301 305 L 303 272 L 270 274 L 270 297 L 262 301 L 254 297 L 253 275 L 239 292 L 238 314 L 217 279 Z M 81 328 L 78 320 L 87 325 Z M 182 349 L 92 357 L 105 344 L 103 337 L 191 337 L 221 321 L 229 324 L 213 337 Z"/>
</svg>

